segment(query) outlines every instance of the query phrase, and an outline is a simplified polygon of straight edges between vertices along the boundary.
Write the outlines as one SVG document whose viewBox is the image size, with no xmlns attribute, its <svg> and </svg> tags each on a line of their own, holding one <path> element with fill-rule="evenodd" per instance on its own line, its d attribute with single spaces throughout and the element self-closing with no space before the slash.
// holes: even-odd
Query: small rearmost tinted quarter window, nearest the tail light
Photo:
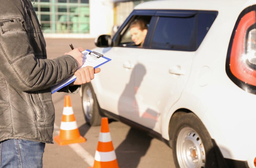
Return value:
<svg viewBox="0 0 256 168">
<path fill-rule="evenodd" d="M 202 43 L 216 17 L 217 12 L 198 13 L 197 48 Z"/>
</svg>

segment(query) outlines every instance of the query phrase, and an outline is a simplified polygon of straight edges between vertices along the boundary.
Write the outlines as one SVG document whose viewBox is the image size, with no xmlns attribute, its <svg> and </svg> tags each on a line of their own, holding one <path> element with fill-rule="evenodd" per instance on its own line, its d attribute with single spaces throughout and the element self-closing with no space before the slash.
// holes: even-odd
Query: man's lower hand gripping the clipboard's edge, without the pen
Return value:
<svg viewBox="0 0 256 168">
<path fill-rule="evenodd" d="M 99 73 L 101 71 L 100 68 L 94 69 L 91 66 L 83 67 L 75 72 L 76 80 L 70 84 L 72 85 L 81 85 L 87 82 L 91 82 L 94 78 L 94 73 Z"/>
</svg>

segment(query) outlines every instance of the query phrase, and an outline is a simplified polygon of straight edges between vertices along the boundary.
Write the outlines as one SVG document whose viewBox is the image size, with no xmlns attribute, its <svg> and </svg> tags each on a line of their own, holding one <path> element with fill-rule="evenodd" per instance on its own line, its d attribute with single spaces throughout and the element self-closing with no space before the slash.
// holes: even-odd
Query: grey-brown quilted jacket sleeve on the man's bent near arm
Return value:
<svg viewBox="0 0 256 168">
<path fill-rule="evenodd" d="M 73 75 L 77 61 L 70 55 L 39 59 L 23 25 L 23 18 L 0 19 L 0 71 L 12 86 L 21 91 L 42 90 Z"/>
</svg>

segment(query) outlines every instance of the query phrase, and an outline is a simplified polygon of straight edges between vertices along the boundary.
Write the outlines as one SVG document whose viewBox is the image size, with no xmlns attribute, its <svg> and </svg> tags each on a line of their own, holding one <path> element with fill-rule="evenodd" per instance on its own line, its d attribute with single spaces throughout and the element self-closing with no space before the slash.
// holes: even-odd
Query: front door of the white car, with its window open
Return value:
<svg viewBox="0 0 256 168">
<path fill-rule="evenodd" d="M 135 107 L 135 66 L 138 62 L 138 56 L 143 50 L 133 46 L 131 35 L 129 34 L 129 24 L 135 17 L 141 16 L 151 19 L 151 13 L 154 11 L 139 13 L 133 11 L 120 27 L 116 37 L 113 38 L 114 46 L 108 48 L 97 48 L 96 52 L 103 53 L 112 60 L 104 65 L 104 70 L 97 74 L 97 85 L 95 90 L 100 107 L 111 113 L 130 119 L 134 116 Z M 143 16 L 142 16 L 143 15 Z"/>
</svg>

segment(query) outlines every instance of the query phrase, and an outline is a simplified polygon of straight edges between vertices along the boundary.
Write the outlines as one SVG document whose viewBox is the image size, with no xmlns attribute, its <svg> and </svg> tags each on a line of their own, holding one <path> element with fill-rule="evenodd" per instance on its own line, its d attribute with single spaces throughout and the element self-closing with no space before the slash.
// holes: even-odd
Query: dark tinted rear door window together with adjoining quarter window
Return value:
<svg viewBox="0 0 256 168">
<path fill-rule="evenodd" d="M 216 17 L 217 11 L 198 11 L 189 17 L 158 16 L 150 48 L 195 51 Z"/>
</svg>

